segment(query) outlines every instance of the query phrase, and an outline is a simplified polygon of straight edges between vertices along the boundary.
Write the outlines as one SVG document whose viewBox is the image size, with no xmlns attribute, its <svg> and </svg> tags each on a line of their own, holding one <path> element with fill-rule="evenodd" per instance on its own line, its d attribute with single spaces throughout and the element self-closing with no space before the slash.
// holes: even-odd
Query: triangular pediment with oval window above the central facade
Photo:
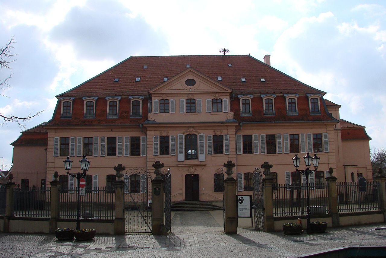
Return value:
<svg viewBox="0 0 386 258">
<path fill-rule="evenodd" d="M 188 80 L 188 81 L 187 81 Z M 193 81 L 194 80 L 194 85 Z M 190 83 L 189 83 L 190 82 Z M 230 93 L 232 90 L 218 81 L 188 68 L 182 73 L 169 78 L 164 83 L 149 91 L 150 94 L 166 93 Z"/>
</svg>

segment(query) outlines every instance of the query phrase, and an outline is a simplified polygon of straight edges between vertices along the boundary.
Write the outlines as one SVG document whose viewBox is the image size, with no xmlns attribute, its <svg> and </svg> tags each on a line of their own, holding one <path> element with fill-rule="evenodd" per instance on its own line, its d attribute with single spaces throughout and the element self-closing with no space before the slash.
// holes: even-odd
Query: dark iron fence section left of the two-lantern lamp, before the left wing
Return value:
<svg viewBox="0 0 386 258">
<path fill-rule="evenodd" d="M 51 215 L 51 188 L 14 189 L 13 208 L 15 217 L 49 218 Z"/>
</svg>

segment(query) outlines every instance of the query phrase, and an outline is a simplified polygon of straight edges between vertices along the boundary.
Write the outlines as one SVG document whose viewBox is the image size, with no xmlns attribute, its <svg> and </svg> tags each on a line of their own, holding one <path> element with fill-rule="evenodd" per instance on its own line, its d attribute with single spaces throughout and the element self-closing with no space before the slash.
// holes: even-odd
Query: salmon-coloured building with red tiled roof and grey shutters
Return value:
<svg viewBox="0 0 386 258">
<path fill-rule="evenodd" d="M 320 157 L 311 183 L 324 183 L 330 167 L 338 181 L 372 180 L 365 127 L 340 120 L 340 105 L 325 94 L 271 67 L 269 56 L 130 57 L 57 96 L 44 124 L 46 154 L 36 157 L 46 171 L 36 184 L 58 171 L 73 187 L 67 156 L 91 161 L 90 188 L 112 186 L 119 163 L 152 174 L 159 160 L 164 171 L 171 168 L 172 201 L 217 201 L 228 160 L 236 164 L 237 190 L 252 194 L 253 171 L 264 161 L 273 164 L 277 183 L 302 183 L 292 158 L 307 152 Z M 18 157 L 28 150 L 14 146 L 19 183 L 27 174 Z M 74 162 L 71 171 L 77 169 Z M 125 180 L 141 188 L 146 179 Z"/>
</svg>

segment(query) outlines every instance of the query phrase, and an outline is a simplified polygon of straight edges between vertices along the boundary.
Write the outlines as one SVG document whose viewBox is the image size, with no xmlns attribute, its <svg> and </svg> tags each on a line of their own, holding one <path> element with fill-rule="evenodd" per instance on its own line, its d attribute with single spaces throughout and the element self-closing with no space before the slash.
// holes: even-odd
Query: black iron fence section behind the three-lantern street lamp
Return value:
<svg viewBox="0 0 386 258">
<path fill-rule="evenodd" d="M 328 185 L 310 184 L 310 214 L 328 213 Z M 273 188 L 273 216 L 302 216 L 307 214 L 306 184 L 278 184 Z"/>
</svg>

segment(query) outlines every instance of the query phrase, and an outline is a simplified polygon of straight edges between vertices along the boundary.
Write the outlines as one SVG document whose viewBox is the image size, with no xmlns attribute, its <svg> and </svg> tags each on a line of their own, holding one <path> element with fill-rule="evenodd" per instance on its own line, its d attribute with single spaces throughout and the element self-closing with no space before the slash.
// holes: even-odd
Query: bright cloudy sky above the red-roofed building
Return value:
<svg viewBox="0 0 386 258">
<path fill-rule="evenodd" d="M 0 46 L 14 36 L 11 88 L 0 113 L 44 110 L 55 95 L 129 56 L 251 54 L 327 92 L 340 117 L 366 126 L 371 148 L 386 147 L 386 3 L 357 0 L 29 1 L 0 0 Z M 23 131 L 0 127 L 0 168 Z M 3 159 L 1 159 L 3 157 Z M 4 165 L 2 167 L 2 165 Z"/>
</svg>

